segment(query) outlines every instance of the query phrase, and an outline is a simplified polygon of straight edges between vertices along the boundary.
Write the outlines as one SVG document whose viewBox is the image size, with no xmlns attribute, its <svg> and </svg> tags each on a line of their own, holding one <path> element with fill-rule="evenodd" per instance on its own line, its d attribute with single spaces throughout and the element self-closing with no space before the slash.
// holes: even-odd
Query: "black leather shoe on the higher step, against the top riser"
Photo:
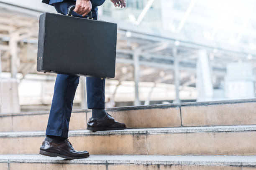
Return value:
<svg viewBox="0 0 256 170">
<path fill-rule="evenodd" d="M 87 123 L 87 130 L 101 131 L 101 130 L 122 130 L 126 126 L 124 123 L 116 122 L 115 119 L 108 113 L 102 119 L 90 118 Z"/>
</svg>

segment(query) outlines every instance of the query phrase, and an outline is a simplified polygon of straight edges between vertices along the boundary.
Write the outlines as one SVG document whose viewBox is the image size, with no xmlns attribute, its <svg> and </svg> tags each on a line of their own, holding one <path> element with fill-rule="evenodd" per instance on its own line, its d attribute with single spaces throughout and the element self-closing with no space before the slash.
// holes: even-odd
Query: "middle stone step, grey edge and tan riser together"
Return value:
<svg viewBox="0 0 256 170">
<path fill-rule="evenodd" d="M 0 154 L 37 154 L 44 138 L 43 131 L 0 133 Z M 93 155 L 256 155 L 256 125 L 74 130 L 69 140 Z"/>
</svg>

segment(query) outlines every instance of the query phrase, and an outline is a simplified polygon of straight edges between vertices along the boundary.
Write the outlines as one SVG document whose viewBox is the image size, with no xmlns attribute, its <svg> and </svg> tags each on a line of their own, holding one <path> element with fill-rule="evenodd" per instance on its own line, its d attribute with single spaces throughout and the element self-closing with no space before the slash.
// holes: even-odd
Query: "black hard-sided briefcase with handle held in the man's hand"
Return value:
<svg viewBox="0 0 256 170">
<path fill-rule="evenodd" d="M 71 15 L 40 15 L 37 71 L 115 77 L 117 24 Z"/>
</svg>

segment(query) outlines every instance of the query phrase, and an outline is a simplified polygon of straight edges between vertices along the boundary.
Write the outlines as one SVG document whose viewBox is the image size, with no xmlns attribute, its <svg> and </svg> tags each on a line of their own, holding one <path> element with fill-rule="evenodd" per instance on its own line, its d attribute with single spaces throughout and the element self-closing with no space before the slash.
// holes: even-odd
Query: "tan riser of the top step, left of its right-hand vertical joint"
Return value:
<svg viewBox="0 0 256 170">
<path fill-rule="evenodd" d="M 115 120 L 125 123 L 128 128 L 163 128 L 181 125 L 179 107 L 164 109 L 143 109 L 128 111 L 109 111 Z M 91 112 L 74 112 L 71 115 L 69 130 L 85 130 Z M 1 132 L 43 131 L 46 130 L 49 114 L 15 115 L 0 117 Z M 145 121 L 146 120 L 146 121 Z"/>
</svg>

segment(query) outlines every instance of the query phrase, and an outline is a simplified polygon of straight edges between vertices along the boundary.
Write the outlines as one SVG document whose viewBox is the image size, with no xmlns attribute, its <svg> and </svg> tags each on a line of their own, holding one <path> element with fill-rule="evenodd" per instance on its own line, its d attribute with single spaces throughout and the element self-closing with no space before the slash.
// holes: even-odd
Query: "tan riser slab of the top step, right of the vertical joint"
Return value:
<svg viewBox="0 0 256 170">
<path fill-rule="evenodd" d="M 256 125 L 256 102 L 181 107 L 182 125 Z"/>
</svg>

